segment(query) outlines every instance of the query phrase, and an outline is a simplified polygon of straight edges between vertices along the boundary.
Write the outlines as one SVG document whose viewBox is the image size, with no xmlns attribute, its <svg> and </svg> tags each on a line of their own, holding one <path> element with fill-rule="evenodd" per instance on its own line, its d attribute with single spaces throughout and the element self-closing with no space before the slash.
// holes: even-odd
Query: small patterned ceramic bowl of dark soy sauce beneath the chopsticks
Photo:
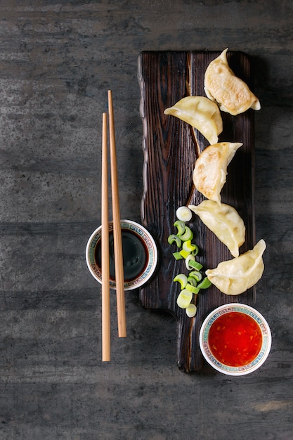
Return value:
<svg viewBox="0 0 293 440">
<path fill-rule="evenodd" d="M 141 287 L 150 280 L 157 266 L 157 247 L 150 233 L 140 224 L 121 220 L 124 264 L 124 290 Z M 93 278 L 102 283 L 101 269 L 102 226 L 93 231 L 86 245 L 86 264 Z M 113 224 L 109 223 L 110 287 L 116 288 Z"/>
</svg>

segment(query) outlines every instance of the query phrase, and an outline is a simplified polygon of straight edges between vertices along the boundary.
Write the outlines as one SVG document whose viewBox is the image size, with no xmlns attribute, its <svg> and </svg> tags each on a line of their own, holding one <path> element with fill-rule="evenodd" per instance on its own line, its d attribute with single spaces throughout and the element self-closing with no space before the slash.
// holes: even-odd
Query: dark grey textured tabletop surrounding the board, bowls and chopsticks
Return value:
<svg viewBox="0 0 293 440">
<path fill-rule="evenodd" d="M 0 439 L 290 440 L 291 0 L 0 1 Z M 273 346 L 252 375 L 176 365 L 176 324 L 126 295 L 100 360 L 100 287 L 86 241 L 100 224 L 101 113 L 112 89 L 122 217 L 140 221 L 143 50 L 240 50 L 255 92 L 256 308 Z M 113 301 L 113 308 L 115 302 Z"/>
</svg>

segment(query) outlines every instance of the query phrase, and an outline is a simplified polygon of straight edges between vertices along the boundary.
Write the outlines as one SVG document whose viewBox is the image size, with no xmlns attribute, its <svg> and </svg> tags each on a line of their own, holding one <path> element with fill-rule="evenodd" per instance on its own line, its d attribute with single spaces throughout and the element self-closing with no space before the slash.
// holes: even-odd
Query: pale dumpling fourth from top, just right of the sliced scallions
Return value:
<svg viewBox="0 0 293 440">
<path fill-rule="evenodd" d="M 236 209 L 225 203 L 218 205 L 213 200 L 188 207 L 228 247 L 233 257 L 239 256 L 239 247 L 245 242 L 245 224 Z"/>
</svg>

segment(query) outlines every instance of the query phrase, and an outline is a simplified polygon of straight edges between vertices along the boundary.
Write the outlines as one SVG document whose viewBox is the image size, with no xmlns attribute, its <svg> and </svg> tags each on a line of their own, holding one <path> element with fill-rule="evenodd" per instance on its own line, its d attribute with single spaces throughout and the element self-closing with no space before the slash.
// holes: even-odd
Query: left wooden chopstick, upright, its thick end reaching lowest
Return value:
<svg viewBox="0 0 293 440">
<path fill-rule="evenodd" d="M 110 355 L 110 255 L 108 204 L 107 113 L 103 113 L 102 136 L 102 360 Z"/>
</svg>

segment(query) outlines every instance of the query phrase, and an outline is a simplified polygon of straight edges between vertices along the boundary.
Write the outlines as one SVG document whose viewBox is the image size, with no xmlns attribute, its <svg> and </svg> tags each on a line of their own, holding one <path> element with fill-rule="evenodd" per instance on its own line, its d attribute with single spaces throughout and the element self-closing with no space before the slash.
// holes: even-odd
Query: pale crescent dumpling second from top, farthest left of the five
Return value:
<svg viewBox="0 0 293 440">
<path fill-rule="evenodd" d="M 164 114 L 176 116 L 192 125 L 209 143 L 218 142 L 218 136 L 223 131 L 218 105 L 205 96 L 185 96 L 173 107 L 164 110 Z"/>
</svg>

